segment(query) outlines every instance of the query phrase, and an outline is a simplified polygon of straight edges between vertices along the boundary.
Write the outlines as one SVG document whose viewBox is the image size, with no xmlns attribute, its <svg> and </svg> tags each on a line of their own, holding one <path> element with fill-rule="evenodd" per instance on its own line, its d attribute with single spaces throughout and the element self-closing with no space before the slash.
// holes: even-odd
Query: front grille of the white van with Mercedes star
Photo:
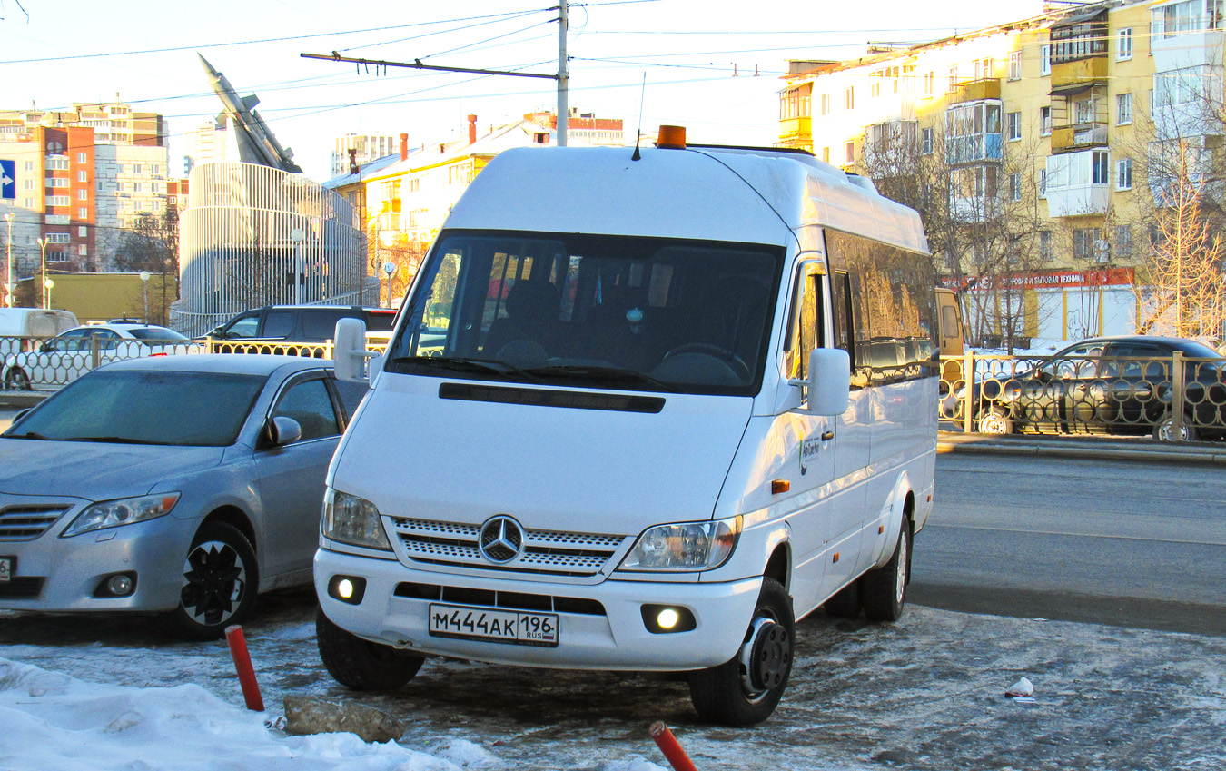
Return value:
<svg viewBox="0 0 1226 771">
<path fill-rule="evenodd" d="M 392 517 L 402 559 L 566 576 L 598 574 L 629 536 L 524 530 L 524 552 L 510 564 L 481 555 L 481 525 Z"/>
</svg>

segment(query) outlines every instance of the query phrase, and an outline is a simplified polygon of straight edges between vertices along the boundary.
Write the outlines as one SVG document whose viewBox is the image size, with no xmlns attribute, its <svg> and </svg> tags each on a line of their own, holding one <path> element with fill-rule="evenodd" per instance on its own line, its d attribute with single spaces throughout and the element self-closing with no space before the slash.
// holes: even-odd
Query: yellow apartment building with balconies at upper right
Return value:
<svg viewBox="0 0 1226 771">
<path fill-rule="evenodd" d="M 781 147 L 924 215 L 980 337 L 1134 332 L 1172 143 L 1208 165 L 1222 0 L 1063 6 L 847 61 L 792 61 Z"/>
</svg>

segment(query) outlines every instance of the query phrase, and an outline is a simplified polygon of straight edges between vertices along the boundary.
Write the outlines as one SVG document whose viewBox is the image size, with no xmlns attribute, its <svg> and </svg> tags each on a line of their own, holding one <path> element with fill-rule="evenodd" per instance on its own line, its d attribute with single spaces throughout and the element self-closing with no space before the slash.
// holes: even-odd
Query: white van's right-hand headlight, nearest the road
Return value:
<svg viewBox="0 0 1226 771">
<path fill-rule="evenodd" d="M 739 516 L 657 525 L 639 536 L 619 570 L 714 570 L 732 554 L 738 536 Z"/>
</svg>

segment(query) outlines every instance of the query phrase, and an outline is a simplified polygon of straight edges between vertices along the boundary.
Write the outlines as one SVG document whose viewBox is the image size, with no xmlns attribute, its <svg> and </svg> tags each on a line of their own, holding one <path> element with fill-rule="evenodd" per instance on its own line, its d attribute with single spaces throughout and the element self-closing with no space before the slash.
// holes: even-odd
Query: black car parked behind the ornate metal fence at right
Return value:
<svg viewBox="0 0 1226 771">
<path fill-rule="evenodd" d="M 1182 370 L 1173 354 L 1182 354 Z M 1176 380 L 1182 381 L 1182 395 Z M 960 413 L 959 382 L 943 402 Z M 1155 439 L 1226 436 L 1226 358 L 1194 340 L 1094 337 L 1026 369 L 976 380 L 973 417 L 984 434 L 1015 430 L 1151 434 Z M 1176 430 L 1177 413 L 1182 420 Z"/>
</svg>

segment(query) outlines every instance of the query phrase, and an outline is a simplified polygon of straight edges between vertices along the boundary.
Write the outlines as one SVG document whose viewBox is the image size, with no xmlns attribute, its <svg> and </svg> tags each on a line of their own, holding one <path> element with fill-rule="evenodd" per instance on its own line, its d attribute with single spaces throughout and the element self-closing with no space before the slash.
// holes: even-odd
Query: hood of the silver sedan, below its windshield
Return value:
<svg viewBox="0 0 1226 771">
<path fill-rule="evenodd" d="M 224 447 L 0 438 L 0 493 L 108 500 L 217 466 Z"/>
</svg>

